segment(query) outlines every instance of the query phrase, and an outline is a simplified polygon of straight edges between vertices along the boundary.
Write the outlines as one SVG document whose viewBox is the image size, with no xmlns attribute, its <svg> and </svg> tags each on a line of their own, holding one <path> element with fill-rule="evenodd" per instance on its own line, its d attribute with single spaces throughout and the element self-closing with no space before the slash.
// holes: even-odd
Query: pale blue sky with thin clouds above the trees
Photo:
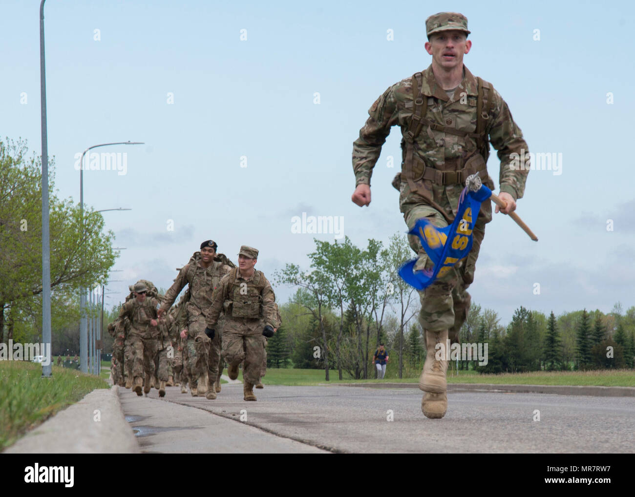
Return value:
<svg viewBox="0 0 635 497">
<path fill-rule="evenodd" d="M 39 2 L 0 4 L 0 135 L 22 136 L 39 154 Z M 128 248 L 113 277 L 125 281 L 109 284 L 120 293 L 107 302 L 142 277 L 168 287 L 209 238 L 234 260 L 241 244 L 260 249 L 257 267 L 270 279 L 285 262 L 306 267 L 314 235 L 291 232 L 303 212 L 343 216 L 358 245 L 405 232 L 390 184 L 397 170 L 387 167 L 388 156 L 399 164 L 399 129 L 373 173 L 369 208 L 350 201 L 352 142 L 377 96 L 429 65 L 425 18 L 439 10 L 469 19 L 465 65 L 505 98 L 530 150 L 563 157 L 560 175 L 532 171 L 518 202 L 537 243 L 502 215 L 488 225 L 473 302 L 504 322 L 519 305 L 559 313 L 635 304 L 631 3 L 48 0 L 58 194 L 79 202 L 75 154 L 86 147 L 145 142 L 97 149 L 127 152 L 125 175 L 84 174 L 86 204 L 132 209 L 104 213 Z M 497 186 L 498 169 L 492 153 Z M 281 302 L 290 293 L 276 288 Z"/>
</svg>

